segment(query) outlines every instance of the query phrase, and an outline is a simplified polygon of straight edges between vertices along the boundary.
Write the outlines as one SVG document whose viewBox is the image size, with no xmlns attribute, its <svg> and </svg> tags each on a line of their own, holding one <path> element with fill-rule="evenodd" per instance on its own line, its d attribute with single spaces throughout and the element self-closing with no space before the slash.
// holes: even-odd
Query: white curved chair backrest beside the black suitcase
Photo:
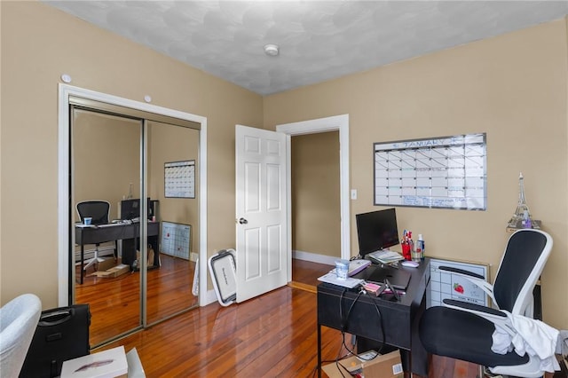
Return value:
<svg viewBox="0 0 568 378">
<path fill-rule="evenodd" d="M 42 302 L 33 294 L 23 294 L 0 308 L 0 374 L 17 377 L 28 353 Z"/>
</svg>

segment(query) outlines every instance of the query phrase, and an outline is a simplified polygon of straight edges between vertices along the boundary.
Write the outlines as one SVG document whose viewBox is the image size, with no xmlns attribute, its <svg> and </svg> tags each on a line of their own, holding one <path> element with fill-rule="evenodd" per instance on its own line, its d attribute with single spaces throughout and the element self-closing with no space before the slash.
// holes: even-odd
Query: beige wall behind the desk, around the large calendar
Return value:
<svg viewBox="0 0 568 378">
<path fill-rule="evenodd" d="M 373 142 L 487 133 L 487 210 L 397 208 L 399 228 L 422 233 L 430 256 L 499 264 L 525 176 L 533 216 L 555 240 L 542 275 L 544 319 L 568 327 L 566 24 L 469 43 L 264 98 L 269 128 L 350 116 L 351 251 L 355 214 L 373 206 Z"/>
</svg>

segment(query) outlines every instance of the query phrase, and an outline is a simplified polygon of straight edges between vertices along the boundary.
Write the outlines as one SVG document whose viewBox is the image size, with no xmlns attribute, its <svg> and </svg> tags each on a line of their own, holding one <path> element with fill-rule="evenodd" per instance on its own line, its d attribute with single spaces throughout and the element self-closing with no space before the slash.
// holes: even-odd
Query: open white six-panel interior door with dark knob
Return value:
<svg viewBox="0 0 568 378">
<path fill-rule="evenodd" d="M 237 302 L 287 283 L 287 156 L 283 133 L 236 125 Z"/>
</svg>

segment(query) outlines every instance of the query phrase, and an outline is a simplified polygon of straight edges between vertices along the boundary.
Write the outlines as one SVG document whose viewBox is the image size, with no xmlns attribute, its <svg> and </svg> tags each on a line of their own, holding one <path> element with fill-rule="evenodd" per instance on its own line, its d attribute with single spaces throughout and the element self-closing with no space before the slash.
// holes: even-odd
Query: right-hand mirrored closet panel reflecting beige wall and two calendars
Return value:
<svg viewBox="0 0 568 378">
<path fill-rule="evenodd" d="M 160 268 L 148 271 L 146 284 L 147 323 L 154 324 L 198 305 L 193 277 L 199 246 L 199 130 L 148 122 L 147 136 L 147 192 L 157 201 L 161 228 L 159 250 L 154 248 Z M 172 162 L 181 162 L 179 169 L 170 169 Z"/>
</svg>

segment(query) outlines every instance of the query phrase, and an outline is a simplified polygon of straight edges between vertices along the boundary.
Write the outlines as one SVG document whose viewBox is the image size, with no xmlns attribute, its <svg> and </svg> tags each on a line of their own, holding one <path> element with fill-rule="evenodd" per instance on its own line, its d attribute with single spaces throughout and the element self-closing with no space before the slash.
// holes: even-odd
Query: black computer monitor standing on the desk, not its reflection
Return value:
<svg viewBox="0 0 568 378">
<path fill-rule="evenodd" d="M 372 211 L 357 214 L 357 235 L 359 237 L 359 254 L 375 252 L 396 246 L 398 240 L 397 214 L 395 209 Z"/>
</svg>

